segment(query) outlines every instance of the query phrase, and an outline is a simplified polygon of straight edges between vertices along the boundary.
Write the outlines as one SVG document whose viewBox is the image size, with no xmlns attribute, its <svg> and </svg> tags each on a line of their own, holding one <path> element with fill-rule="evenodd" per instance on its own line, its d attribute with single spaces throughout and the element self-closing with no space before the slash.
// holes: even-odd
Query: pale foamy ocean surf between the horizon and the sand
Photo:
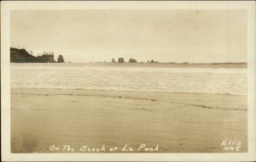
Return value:
<svg viewBox="0 0 256 162">
<path fill-rule="evenodd" d="M 11 87 L 247 94 L 247 69 L 151 64 L 11 64 Z"/>
</svg>

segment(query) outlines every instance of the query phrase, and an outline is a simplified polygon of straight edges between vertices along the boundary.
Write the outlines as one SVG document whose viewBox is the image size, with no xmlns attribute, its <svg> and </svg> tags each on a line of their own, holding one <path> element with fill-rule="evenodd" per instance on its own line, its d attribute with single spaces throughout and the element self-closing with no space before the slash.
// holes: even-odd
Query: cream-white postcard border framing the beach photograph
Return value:
<svg viewBox="0 0 256 162">
<path fill-rule="evenodd" d="M 247 9 L 248 152 L 224 154 L 11 154 L 10 153 L 10 63 L 9 15 L 12 9 Z M 2 2 L 1 3 L 1 129 L 5 161 L 253 161 L 255 160 L 255 2 Z"/>
</svg>

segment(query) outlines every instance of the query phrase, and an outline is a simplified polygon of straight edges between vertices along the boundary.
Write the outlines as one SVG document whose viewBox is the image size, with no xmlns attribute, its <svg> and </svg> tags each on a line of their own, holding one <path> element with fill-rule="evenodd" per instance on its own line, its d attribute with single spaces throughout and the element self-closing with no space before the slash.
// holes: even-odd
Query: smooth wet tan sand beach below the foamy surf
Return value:
<svg viewBox="0 0 256 162">
<path fill-rule="evenodd" d="M 13 153 L 68 152 L 50 151 L 53 145 L 127 153 L 125 144 L 131 153 L 148 152 L 137 150 L 141 144 L 158 148 L 154 153 L 234 152 L 223 140 L 240 141 L 239 152 L 247 151 L 247 96 L 11 89 Z"/>
</svg>

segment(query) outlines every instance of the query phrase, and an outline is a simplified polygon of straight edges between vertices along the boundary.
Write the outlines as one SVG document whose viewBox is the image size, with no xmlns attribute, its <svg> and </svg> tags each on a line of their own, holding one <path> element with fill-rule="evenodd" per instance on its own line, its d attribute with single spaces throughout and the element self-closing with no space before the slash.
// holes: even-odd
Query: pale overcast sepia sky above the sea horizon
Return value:
<svg viewBox="0 0 256 162">
<path fill-rule="evenodd" d="M 66 61 L 246 62 L 246 10 L 15 10 L 11 44 Z"/>
</svg>

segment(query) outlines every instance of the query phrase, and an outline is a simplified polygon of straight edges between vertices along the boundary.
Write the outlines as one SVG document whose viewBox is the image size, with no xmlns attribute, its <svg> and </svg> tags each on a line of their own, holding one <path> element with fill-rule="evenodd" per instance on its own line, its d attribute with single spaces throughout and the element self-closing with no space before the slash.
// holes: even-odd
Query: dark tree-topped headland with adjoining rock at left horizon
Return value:
<svg viewBox="0 0 256 162">
<path fill-rule="evenodd" d="M 57 61 L 54 59 L 53 53 L 43 53 L 40 56 L 33 56 L 27 53 L 26 49 L 10 48 L 11 63 L 64 63 L 64 58 L 60 54 Z"/>
</svg>

